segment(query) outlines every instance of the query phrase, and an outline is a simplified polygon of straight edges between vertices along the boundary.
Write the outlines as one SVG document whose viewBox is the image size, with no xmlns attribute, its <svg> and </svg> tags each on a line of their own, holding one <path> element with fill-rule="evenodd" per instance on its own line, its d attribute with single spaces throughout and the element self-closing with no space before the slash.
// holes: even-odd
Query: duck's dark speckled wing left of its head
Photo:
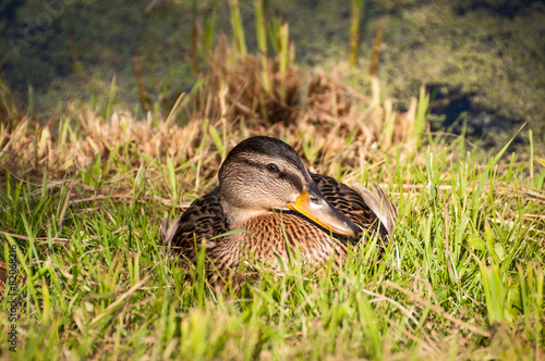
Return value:
<svg viewBox="0 0 545 361">
<path fill-rule="evenodd" d="M 227 220 L 219 202 L 218 186 L 191 203 L 181 217 L 173 221 L 164 220 L 161 242 L 194 262 L 195 245 L 213 248 L 216 244 L 209 239 L 227 231 Z"/>
</svg>

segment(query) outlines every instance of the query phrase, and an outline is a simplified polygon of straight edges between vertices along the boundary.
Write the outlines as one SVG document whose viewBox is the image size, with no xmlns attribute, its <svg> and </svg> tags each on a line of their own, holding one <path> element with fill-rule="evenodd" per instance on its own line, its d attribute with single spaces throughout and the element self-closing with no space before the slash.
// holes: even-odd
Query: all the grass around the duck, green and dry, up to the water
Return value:
<svg viewBox="0 0 545 361">
<path fill-rule="evenodd" d="M 105 111 L 71 104 L 46 126 L 4 107 L 0 259 L 15 246 L 20 319 L 9 320 L 7 288 L 3 358 L 545 357 L 543 159 L 426 134 L 424 92 L 402 113 L 378 78 L 370 99 L 331 76 L 294 76 L 288 25 L 278 28 L 270 90 L 241 33 L 168 116 L 116 111 L 114 79 Z M 287 101 L 299 77 L 303 107 Z M 267 116 L 278 108 L 289 121 Z M 223 290 L 206 282 L 203 259 L 179 266 L 158 244 L 161 219 L 210 190 L 227 151 L 257 134 L 293 145 L 311 171 L 379 183 L 399 212 L 385 257 L 370 244 L 317 274 L 257 266 L 259 277 Z"/>
</svg>

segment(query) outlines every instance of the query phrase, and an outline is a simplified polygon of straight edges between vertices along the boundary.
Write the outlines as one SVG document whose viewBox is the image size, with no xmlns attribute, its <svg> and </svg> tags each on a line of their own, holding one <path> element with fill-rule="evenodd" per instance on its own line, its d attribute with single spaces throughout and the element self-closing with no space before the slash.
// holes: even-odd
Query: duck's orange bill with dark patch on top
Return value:
<svg viewBox="0 0 545 361">
<path fill-rule="evenodd" d="M 326 201 L 314 182 L 308 184 L 301 196 L 288 206 L 292 211 L 303 214 L 332 233 L 343 236 L 358 234 L 359 229 L 355 224 Z"/>
</svg>

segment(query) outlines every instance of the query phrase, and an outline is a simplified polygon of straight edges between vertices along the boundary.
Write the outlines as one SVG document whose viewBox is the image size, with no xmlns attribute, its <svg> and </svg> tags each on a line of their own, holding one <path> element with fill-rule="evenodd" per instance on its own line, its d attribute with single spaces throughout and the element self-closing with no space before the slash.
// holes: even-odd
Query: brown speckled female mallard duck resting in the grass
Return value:
<svg viewBox="0 0 545 361">
<path fill-rule="evenodd" d="M 301 260 L 324 264 L 347 256 L 348 244 L 378 232 L 385 246 L 397 217 L 385 194 L 312 174 L 298 152 L 270 137 L 234 147 L 219 170 L 219 186 L 195 200 L 183 215 L 161 225 L 162 242 L 195 262 L 206 248 L 213 269 L 226 274 L 242 259 L 278 265 L 299 248 Z M 229 231 L 243 229 L 217 237 Z M 217 237 L 217 238 L 215 238 Z M 209 264 L 210 265 L 210 264 Z"/>
</svg>

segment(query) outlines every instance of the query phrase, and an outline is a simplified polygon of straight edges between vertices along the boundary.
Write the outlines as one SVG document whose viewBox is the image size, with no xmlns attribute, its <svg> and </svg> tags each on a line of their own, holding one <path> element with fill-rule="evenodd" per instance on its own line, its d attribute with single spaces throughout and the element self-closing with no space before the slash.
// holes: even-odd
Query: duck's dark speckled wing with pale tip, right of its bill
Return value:
<svg viewBox="0 0 545 361">
<path fill-rule="evenodd" d="M 371 191 L 364 187 L 353 189 L 323 174 L 311 173 L 311 177 L 326 200 L 358 226 L 374 232 L 380 224 L 378 232 L 382 238 L 387 240 L 388 236 L 391 236 L 397 219 L 396 208 L 380 188 L 378 188 L 379 196 L 375 196 L 377 199 L 374 199 L 368 195 Z M 360 188 L 365 189 L 366 192 L 361 191 Z M 380 204 L 388 204 L 388 207 Z"/>
</svg>

